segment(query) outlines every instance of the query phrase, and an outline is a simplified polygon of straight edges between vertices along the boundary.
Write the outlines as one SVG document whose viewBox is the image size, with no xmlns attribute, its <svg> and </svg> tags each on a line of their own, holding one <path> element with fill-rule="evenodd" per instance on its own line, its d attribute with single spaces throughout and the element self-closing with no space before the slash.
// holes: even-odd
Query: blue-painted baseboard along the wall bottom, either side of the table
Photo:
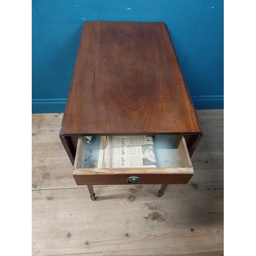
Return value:
<svg viewBox="0 0 256 256">
<path fill-rule="evenodd" d="M 196 110 L 224 109 L 223 95 L 191 96 Z M 32 99 L 32 114 L 63 113 L 67 99 Z"/>
</svg>

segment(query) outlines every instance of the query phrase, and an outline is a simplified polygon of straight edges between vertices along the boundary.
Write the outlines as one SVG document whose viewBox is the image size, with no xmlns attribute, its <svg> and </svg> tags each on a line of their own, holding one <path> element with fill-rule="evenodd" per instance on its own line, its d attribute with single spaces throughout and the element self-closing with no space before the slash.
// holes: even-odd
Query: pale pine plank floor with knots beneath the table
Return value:
<svg viewBox="0 0 256 256">
<path fill-rule="evenodd" d="M 223 255 L 223 110 L 197 111 L 204 136 L 185 185 L 77 186 L 62 114 L 32 115 L 32 255 Z"/>
</svg>

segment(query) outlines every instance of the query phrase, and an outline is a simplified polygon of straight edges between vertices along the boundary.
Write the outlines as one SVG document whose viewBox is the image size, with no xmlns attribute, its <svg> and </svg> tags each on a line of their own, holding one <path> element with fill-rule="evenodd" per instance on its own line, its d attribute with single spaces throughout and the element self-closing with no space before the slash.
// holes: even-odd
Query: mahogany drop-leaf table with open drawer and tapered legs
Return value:
<svg viewBox="0 0 256 256">
<path fill-rule="evenodd" d="M 84 136 L 123 135 L 153 136 L 157 167 L 83 166 Z M 202 136 L 164 23 L 84 23 L 59 137 L 92 200 L 93 185 L 161 184 L 161 197 L 168 184 L 188 183 Z"/>
</svg>

